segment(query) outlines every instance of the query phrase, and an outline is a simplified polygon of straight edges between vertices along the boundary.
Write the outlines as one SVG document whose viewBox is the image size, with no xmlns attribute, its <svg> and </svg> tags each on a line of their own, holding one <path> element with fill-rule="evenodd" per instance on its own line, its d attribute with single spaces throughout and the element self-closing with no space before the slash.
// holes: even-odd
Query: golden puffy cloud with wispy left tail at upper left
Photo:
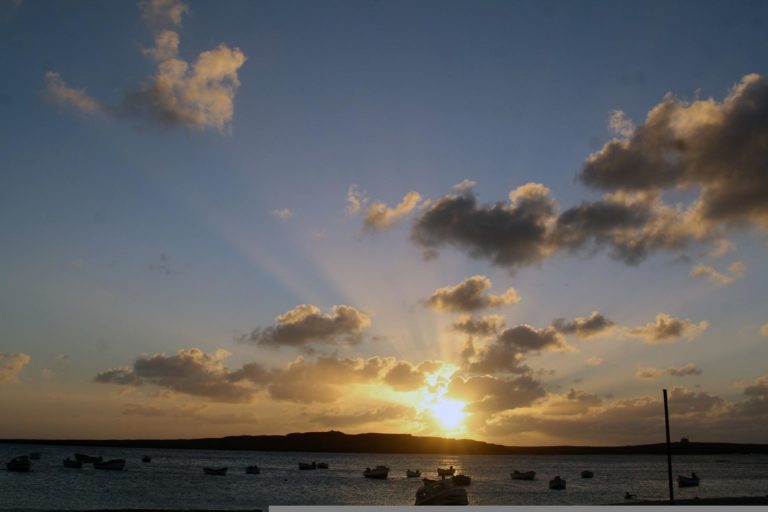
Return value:
<svg viewBox="0 0 768 512">
<path fill-rule="evenodd" d="M 154 31 L 154 46 L 144 50 L 157 65 L 148 83 L 125 93 L 119 107 L 106 107 L 84 89 L 67 86 L 58 73 L 49 71 L 48 95 L 59 104 L 87 113 L 130 115 L 162 124 L 224 131 L 234 116 L 234 98 L 240 86 L 238 70 L 245 63 L 245 54 L 239 48 L 219 44 L 189 63 L 179 57 L 177 31 L 182 15 L 189 12 L 187 5 L 178 0 L 148 0 L 140 2 L 140 7 Z"/>
</svg>

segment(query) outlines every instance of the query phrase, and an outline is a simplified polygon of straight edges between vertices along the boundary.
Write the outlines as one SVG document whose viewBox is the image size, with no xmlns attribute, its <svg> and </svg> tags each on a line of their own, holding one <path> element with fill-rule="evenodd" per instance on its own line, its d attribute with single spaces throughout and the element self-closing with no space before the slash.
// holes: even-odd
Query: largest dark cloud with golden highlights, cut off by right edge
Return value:
<svg viewBox="0 0 768 512">
<path fill-rule="evenodd" d="M 768 81 L 744 76 L 722 102 L 671 94 L 627 140 L 590 156 L 581 180 L 603 190 L 659 191 L 696 186 L 698 217 L 711 224 L 768 226 Z"/>
</svg>

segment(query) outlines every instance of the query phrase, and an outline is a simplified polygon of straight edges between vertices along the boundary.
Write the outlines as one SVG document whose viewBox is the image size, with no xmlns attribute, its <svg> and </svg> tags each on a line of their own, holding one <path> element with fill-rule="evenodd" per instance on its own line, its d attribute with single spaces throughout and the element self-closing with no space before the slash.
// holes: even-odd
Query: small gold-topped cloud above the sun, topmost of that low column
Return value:
<svg viewBox="0 0 768 512">
<path fill-rule="evenodd" d="M 438 288 L 426 303 L 434 311 L 468 313 L 520 302 L 520 296 L 514 288 L 509 288 L 502 295 L 484 295 L 491 286 L 491 280 L 485 276 L 468 277 L 455 286 Z"/>
</svg>

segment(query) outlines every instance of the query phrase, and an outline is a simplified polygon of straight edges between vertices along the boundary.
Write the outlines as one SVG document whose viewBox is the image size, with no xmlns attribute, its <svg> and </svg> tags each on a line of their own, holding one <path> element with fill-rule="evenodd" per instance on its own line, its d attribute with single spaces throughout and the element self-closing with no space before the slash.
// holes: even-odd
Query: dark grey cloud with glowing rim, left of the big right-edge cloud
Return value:
<svg viewBox="0 0 768 512">
<path fill-rule="evenodd" d="M 471 190 L 442 197 L 417 217 L 411 240 L 427 257 L 452 246 L 509 270 L 543 261 L 552 252 L 547 234 L 557 203 L 538 183 L 513 190 L 509 201 L 478 206 Z"/>
</svg>

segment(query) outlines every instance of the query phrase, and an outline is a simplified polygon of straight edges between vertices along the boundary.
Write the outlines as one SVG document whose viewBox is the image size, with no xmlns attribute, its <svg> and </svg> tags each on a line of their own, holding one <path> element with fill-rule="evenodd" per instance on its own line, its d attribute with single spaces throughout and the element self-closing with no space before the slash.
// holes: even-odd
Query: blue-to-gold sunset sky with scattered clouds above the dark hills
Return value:
<svg viewBox="0 0 768 512">
<path fill-rule="evenodd" d="M 0 438 L 768 442 L 767 24 L 0 1 Z"/>
</svg>

